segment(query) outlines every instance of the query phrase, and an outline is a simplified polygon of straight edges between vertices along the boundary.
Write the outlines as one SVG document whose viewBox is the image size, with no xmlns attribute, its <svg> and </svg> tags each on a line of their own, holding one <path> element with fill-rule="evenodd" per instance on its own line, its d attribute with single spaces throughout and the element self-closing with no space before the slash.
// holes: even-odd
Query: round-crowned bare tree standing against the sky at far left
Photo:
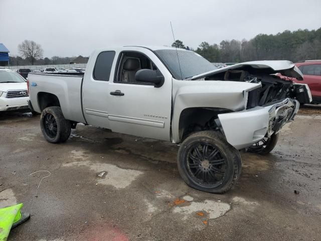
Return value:
<svg viewBox="0 0 321 241">
<path fill-rule="evenodd" d="M 34 65 L 34 62 L 37 59 L 40 59 L 43 57 L 43 52 L 44 52 L 41 45 L 37 44 L 35 41 L 32 41 L 32 40 L 25 40 L 24 42 L 19 44 L 18 50 L 20 55 L 30 60 L 32 65 Z"/>
</svg>

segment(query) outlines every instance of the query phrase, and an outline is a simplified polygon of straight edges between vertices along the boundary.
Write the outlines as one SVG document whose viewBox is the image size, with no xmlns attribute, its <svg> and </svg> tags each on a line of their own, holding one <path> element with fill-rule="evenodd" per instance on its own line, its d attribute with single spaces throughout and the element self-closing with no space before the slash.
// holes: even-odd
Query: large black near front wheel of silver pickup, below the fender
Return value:
<svg viewBox="0 0 321 241">
<path fill-rule="evenodd" d="M 178 153 L 178 170 L 183 180 L 205 192 L 228 191 L 239 178 L 241 167 L 239 151 L 213 131 L 192 134 Z"/>
</svg>

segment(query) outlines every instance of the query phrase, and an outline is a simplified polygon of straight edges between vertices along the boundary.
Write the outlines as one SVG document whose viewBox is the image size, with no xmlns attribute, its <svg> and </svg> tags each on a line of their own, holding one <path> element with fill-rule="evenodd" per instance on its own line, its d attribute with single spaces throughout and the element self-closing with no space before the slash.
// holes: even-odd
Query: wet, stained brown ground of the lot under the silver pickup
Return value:
<svg viewBox="0 0 321 241">
<path fill-rule="evenodd" d="M 0 206 L 32 215 L 9 240 L 321 240 L 321 106 L 304 106 L 271 154 L 242 153 L 224 195 L 185 185 L 174 144 L 78 125 L 54 145 L 18 113 L 0 133 Z M 40 170 L 51 176 L 37 189 Z"/>
</svg>

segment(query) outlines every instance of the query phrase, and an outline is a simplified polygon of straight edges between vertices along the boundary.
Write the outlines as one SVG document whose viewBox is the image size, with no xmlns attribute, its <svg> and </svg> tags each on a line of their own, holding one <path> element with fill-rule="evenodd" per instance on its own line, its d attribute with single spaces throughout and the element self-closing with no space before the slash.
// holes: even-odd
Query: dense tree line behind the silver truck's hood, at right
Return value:
<svg viewBox="0 0 321 241">
<path fill-rule="evenodd" d="M 278 34 L 259 34 L 242 41 L 223 40 L 220 44 L 202 42 L 197 49 L 176 40 L 172 47 L 190 49 L 210 62 L 245 62 L 254 60 L 290 60 L 298 62 L 321 59 L 321 28 L 317 30 L 286 30 Z"/>
</svg>

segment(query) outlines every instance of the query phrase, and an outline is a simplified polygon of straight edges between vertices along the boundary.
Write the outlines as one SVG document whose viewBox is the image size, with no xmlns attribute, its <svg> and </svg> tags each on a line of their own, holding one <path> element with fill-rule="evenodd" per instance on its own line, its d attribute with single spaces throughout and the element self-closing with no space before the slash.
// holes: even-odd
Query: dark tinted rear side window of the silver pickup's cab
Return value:
<svg viewBox="0 0 321 241">
<path fill-rule="evenodd" d="M 95 80 L 108 81 L 111 71 L 111 66 L 114 61 L 115 52 L 101 52 L 96 60 L 93 77 Z"/>
</svg>

